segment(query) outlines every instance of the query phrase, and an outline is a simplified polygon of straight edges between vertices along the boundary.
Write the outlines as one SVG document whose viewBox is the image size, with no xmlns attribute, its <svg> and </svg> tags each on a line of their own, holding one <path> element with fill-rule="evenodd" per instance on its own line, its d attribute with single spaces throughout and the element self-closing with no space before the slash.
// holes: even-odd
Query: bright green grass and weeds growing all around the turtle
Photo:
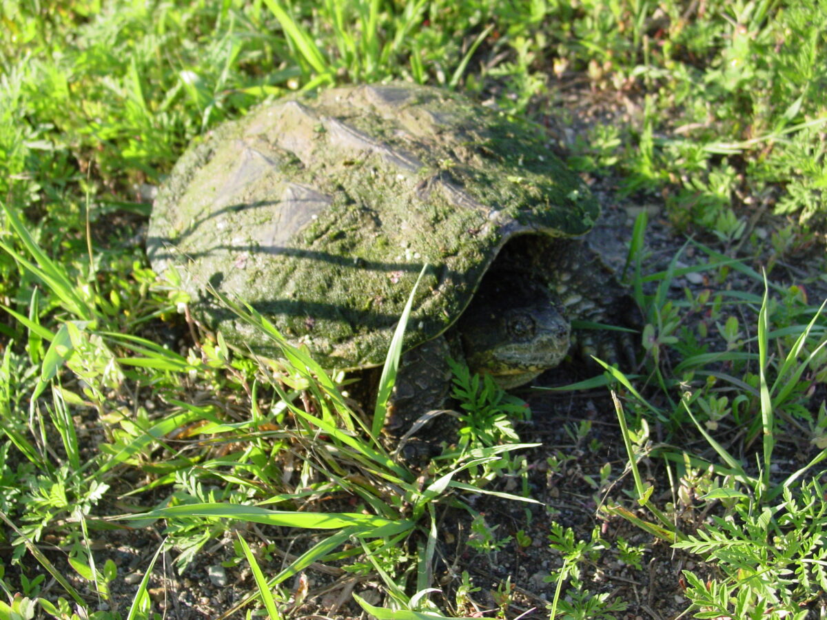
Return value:
<svg viewBox="0 0 827 620">
<path fill-rule="evenodd" d="M 696 560 L 683 577 L 696 618 L 825 613 L 823 269 L 782 284 L 827 213 L 823 0 L 74 0 L 6 3 L 0 21 L 0 618 L 154 617 L 156 560 L 174 550 L 185 571 L 215 541 L 228 567 L 250 567 L 243 604 L 271 618 L 296 613 L 289 580 L 314 563 L 381 584 L 380 602 L 354 597 L 377 618 L 471 615 L 471 578 L 435 574 L 443 511 L 467 515 L 475 557 L 534 548 L 476 508 L 532 502 L 513 397 L 458 368 L 461 450 L 418 477 L 376 439 L 383 398 L 364 421 L 340 377 L 246 308 L 284 360 L 200 333 L 137 241 L 139 198 L 196 136 L 266 98 L 390 78 L 552 125 L 579 119 L 562 93 L 612 103 L 619 117 L 566 139 L 570 165 L 695 236 L 648 273 L 643 218 L 635 228 L 643 359 L 607 379 L 633 497 L 622 472 L 590 478 L 600 518 L 649 538 L 555 523 L 543 613 L 616 618 L 631 601 L 596 591 L 595 567 L 639 564 L 655 540 Z M 676 298 L 690 276 L 705 286 Z M 584 449 L 590 427 L 572 436 Z M 547 476 L 574 459 L 551 457 Z M 259 525 L 308 536 L 279 565 L 272 542 L 251 544 Z M 93 541 L 150 527 L 164 542 L 125 606 L 126 575 Z M 514 617 L 513 584 L 492 591 Z"/>
</svg>

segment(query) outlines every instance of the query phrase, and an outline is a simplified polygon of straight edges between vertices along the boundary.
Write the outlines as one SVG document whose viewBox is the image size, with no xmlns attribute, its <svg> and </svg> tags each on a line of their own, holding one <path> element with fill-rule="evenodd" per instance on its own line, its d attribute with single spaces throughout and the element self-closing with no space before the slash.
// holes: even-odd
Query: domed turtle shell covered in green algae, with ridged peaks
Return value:
<svg viewBox="0 0 827 620">
<path fill-rule="evenodd" d="M 408 83 L 289 98 L 192 146 L 160 189 L 147 251 L 197 316 L 275 343 L 208 292 L 251 304 L 324 367 L 385 360 L 423 265 L 406 348 L 445 331 L 514 236 L 581 235 L 598 205 L 542 128 Z"/>
</svg>

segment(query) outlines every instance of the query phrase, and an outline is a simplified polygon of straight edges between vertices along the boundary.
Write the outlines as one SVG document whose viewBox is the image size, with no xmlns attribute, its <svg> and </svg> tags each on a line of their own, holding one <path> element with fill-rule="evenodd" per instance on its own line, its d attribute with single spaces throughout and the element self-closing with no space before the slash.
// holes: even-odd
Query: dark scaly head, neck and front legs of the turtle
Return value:
<svg viewBox="0 0 827 620">
<path fill-rule="evenodd" d="M 446 406 L 448 355 L 464 356 L 472 372 L 491 374 L 504 389 L 556 367 L 570 346 L 586 360 L 589 355 L 612 363 L 628 358 L 623 332 L 571 332 L 569 319 L 629 324 L 629 303 L 614 273 L 585 243 L 545 236 L 511 241 L 447 338 L 439 336 L 403 356 L 386 435 L 398 440 L 423 414 Z M 406 460 L 433 455 L 436 446 L 428 439 L 450 441 L 448 427 L 436 424 Z"/>
</svg>

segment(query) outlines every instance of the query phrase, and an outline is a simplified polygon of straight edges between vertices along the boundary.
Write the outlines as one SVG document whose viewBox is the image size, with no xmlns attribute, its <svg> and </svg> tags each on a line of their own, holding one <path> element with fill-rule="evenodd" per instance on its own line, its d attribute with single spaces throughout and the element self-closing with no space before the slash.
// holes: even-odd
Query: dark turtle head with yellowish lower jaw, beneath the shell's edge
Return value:
<svg viewBox="0 0 827 620">
<path fill-rule="evenodd" d="M 458 322 L 472 372 L 509 389 L 566 356 L 571 326 L 559 300 L 528 274 L 486 274 Z"/>
</svg>

